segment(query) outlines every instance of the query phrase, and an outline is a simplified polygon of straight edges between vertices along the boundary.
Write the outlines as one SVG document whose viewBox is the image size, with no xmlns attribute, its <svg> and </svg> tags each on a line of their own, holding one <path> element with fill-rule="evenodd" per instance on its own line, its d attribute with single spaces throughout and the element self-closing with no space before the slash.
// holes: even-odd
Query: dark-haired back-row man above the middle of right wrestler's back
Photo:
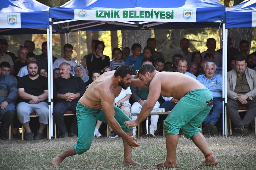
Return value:
<svg viewBox="0 0 256 170">
<path fill-rule="evenodd" d="M 180 41 L 181 50 L 175 53 L 175 54 L 181 54 L 183 58 L 187 60 L 188 65 L 191 63 L 191 56 L 192 56 L 192 53 L 188 51 L 189 46 L 190 46 L 189 40 L 187 38 L 182 38 Z"/>
</svg>

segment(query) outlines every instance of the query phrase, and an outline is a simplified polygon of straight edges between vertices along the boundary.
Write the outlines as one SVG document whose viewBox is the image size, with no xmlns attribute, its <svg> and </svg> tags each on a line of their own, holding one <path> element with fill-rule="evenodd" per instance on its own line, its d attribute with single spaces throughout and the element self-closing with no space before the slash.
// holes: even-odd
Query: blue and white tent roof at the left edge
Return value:
<svg viewBox="0 0 256 170">
<path fill-rule="evenodd" d="M 0 35 L 46 33 L 43 28 L 49 26 L 48 10 L 48 6 L 36 0 L 1 1 Z"/>
</svg>

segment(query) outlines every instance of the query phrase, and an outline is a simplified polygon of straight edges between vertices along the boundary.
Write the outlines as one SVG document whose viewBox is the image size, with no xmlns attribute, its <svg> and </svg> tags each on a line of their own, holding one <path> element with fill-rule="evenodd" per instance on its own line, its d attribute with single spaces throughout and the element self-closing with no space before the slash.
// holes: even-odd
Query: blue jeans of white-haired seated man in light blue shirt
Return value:
<svg viewBox="0 0 256 170">
<path fill-rule="evenodd" d="M 215 125 L 217 121 L 219 120 L 219 116 L 222 112 L 222 99 L 221 98 L 213 98 L 213 107 L 212 107 L 212 113 L 208 113 L 206 118 L 203 121 L 203 124 L 206 125 L 208 123 L 212 123 Z"/>
</svg>

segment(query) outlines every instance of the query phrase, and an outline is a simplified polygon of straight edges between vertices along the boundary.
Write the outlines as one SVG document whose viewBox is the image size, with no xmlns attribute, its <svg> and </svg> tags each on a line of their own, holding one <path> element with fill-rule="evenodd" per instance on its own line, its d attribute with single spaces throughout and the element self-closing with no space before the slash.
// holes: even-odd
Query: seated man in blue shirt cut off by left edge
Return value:
<svg viewBox="0 0 256 170">
<path fill-rule="evenodd" d="M 7 63 L 7 62 L 6 62 Z M 8 63 L 9 64 L 9 63 Z M 9 64 L 10 65 L 10 64 Z M 10 75 L 3 74 L 2 68 L 4 65 L 0 64 L 0 139 L 8 139 L 6 131 L 13 122 L 15 116 L 14 100 L 17 96 L 17 84 Z M 10 67 L 9 67 L 10 68 Z"/>
</svg>

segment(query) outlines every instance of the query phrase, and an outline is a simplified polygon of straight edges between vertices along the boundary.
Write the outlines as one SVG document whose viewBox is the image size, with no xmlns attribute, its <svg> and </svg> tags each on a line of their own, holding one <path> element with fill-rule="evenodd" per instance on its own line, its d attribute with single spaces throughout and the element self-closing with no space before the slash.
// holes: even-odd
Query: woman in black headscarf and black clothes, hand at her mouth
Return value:
<svg viewBox="0 0 256 170">
<path fill-rule="evenodd" d="M 95 69 L 98 69 L 102 72 L 103 68 L 109 66 L 110 58 L 107 55 L 103 54 L 105 45 L 103 41 L 96 41 L 94 46 L 94 54 L 89 55 L 86 58 L 87 69 L 89 71 L 89 76 L 91 76 L 91 72 Z"/>
</svg>

